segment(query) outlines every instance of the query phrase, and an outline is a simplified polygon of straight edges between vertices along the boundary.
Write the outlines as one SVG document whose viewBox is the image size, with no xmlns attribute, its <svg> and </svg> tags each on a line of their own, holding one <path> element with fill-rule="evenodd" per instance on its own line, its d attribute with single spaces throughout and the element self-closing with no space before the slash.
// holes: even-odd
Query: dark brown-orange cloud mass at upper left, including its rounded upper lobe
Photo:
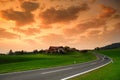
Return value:
<svg viewBox="0 0 120 80">
<path fill-rule="evenodd" d="M 39 7 L 38 3 L 23 2 L 21 8 L 24 11 L 15 11 L 13 9 L 7 9 L 1 11 L 1 17 L 6 20 L 13 20 L 17 26 L 24 26 L 33 23 L 34 15 L 31 13 Z"/>
</svg>

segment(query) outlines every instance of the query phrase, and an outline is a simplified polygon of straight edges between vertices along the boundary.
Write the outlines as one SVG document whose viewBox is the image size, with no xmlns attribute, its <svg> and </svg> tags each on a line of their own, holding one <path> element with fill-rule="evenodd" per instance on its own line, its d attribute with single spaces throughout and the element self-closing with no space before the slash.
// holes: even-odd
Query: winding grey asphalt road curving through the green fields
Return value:
<svg viewBox="0 0 120 80">
<path fill-rule="evenodd" d="M 81 64 L 0 74 L 0 80 L 67 80 L 98 69 L 112 62 L 107 56 L 102 54 L 95 55 L 97 56 L 97 60 Z"/>
</svg>

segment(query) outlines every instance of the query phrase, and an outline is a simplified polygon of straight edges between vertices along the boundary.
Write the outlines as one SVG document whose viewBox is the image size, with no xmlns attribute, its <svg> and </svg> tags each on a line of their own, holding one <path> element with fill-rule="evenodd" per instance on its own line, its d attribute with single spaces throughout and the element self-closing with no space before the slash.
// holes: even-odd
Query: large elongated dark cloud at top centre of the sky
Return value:
<svg viewBox="0 0 120 80">
<path fill-rule="evenodd" d="M 69 22 L 72 20 L 77 19 L 78 13 L 80 11 L 86 11 L 88 10 L 87 4 L 82 4 L 81 6 L 71 6 L 67 9 L 55 9 L 50 8 L 45 11 L 43 11 L 40 14 L 40 18 L 43 23 L 51 24 L 51 23 L 57 23 L 57 22 Z"/>
</svg>

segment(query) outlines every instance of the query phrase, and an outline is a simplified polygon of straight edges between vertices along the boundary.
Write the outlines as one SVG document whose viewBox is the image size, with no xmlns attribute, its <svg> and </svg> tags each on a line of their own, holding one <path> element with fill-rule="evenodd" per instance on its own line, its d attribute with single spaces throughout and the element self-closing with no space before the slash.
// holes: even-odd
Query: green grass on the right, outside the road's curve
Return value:
<svg viewBox="0 0 120 80">
<path fill-rule="evenodd" d="M 70 80 L 120 80 L 120 49 L 99 51 L 113 59 L 113 63 Z"/>
</svg>

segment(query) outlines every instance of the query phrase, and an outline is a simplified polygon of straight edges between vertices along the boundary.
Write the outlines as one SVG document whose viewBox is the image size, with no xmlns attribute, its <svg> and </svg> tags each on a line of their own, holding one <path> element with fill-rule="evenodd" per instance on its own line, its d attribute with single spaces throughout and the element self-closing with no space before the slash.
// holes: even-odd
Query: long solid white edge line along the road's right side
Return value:
<svg viewBox="0 0 120 80">
<path fill-rule="evenodd" d="M 98 66 L 98 67 L 96 67 L 96 68 L 93 68 L 93 69 L 90 69 L 90 70 L 87 70 L 87 71 L 84 71 L 84 72 L 81 72 L 81 73 L 78 73 L 78 74 L 75 74 L 75 75 L 72 75 L 72 76 L 69 76 L 69 77 L 66 77 L 66 78 L 63 78 L 63 79 L 61 79 L 61 80 L 67 80 L 67 79 L 70 79 L 70 78 L 73 78 L 73 77 L 76 77 L 76 76 L 79 76 L 79 75 L 82 75 L 82 74 L 91 72 L 91 71 L 93 71 L 93 70 L 96 70 L 96 69 L 99 69 L 99 68 L 101 68 L 101 67 L 103 67 L 103 66 L 106 66 L 107 64 L 109 64 L 109 63 L 111 63 L 111 62 L 112 62 L 112 60 L 109 61 L 108 63 L 104 64 L 104 65 Z"/>
</svg>

